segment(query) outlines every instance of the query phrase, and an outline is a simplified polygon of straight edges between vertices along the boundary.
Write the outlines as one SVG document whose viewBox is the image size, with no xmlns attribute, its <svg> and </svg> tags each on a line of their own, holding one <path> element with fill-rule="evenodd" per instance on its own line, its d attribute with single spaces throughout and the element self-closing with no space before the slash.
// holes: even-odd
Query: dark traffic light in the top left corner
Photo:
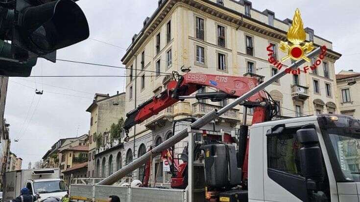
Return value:
<svg viewBox="0 0 360 202">
<path fill-rule="evenodd" d="M 0 3 L 0 21 L 0 40 L 5 41 L 7 47 L 0 51 L 0 75 L 4 76 L 11 76 L 12 66 L 17 65 L 14 70 L 19 70 L 35 65 L 38 57 L 56 62 L 56 50 L 89 37 L 86 17 L 72 0 L 47 3 L 12 0 L 9 4 Z M 11 41 L 11 44 L 6 41 Z M 9 45 L 10 52 L 7 52 Z M 24 74 L 14 73 L 28 76 L 25 70 Z"/>
</svg>

